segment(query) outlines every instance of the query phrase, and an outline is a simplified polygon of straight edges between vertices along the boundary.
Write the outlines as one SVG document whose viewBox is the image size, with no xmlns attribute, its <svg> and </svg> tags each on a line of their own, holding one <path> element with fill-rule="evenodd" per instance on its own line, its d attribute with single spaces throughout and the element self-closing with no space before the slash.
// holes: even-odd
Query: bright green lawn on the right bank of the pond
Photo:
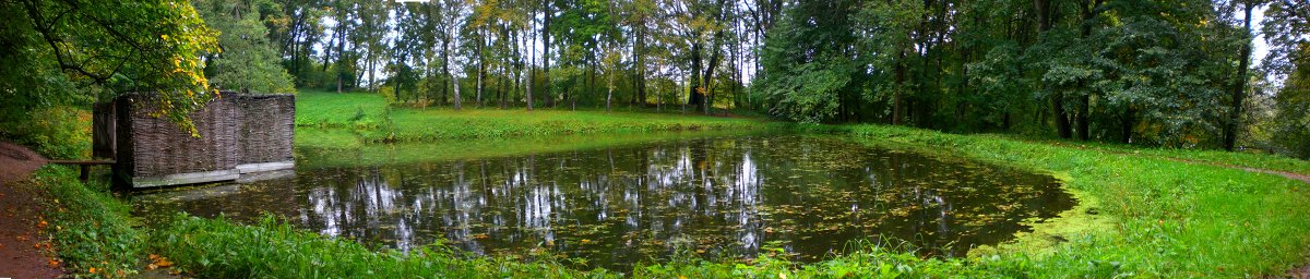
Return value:
<svg viewBox="0 0 1310 279">
<path fill-rule="evenodd" d="M 1068 177 L 1068 189 L 1099 204 L 1095 210 L 1107 225 L 1066 231 L 1061 237 L 1069 242 L 1048 245 L 1051 241 L 1043 240 L 1047 232 L 1078 225 L 1057 219 L 1055 225 L 1039 227 L 1038 233 L 996 249 L 1000 261 L 984 267 L 1006 267 L 998 270 L 1001 274 L 1233 278 L 1279 275 L 1306 263 L 1310 185 L 1297 181 L 1003 136 L 882 126 L 849 130 L 858 138 L 946 148 L 1055 172 Z"/>
</svg>

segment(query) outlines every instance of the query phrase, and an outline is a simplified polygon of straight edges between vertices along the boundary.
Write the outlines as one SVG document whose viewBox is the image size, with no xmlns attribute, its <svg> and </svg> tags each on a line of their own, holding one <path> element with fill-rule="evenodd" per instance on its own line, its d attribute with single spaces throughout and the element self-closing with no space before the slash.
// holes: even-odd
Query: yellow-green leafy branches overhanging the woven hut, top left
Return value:
<svg viewBox="0 0 1310 279">
<path fill-rule="evenodd" d="M 214 97 L 200 54 L 216 51 L 215 33 L 187 3 L 17 1 L 0 7 L 0 60 L 17 65 L 0 71 L 5 107 L 153 92 L 162 101 L 155 113 L 187 126 L 187 113 Z"/>
</svg>

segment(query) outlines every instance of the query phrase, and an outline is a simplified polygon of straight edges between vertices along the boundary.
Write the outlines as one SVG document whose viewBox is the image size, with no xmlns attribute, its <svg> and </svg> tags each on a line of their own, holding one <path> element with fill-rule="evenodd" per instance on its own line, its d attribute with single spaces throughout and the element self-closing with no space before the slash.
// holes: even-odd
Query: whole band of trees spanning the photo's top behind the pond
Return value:
<svg viewBox="0 0 1310 279">
<path fill-rule="evenodd" d="M 22 65 L 0 101 L 22 107 L 309 88 L 1310 157 L 1306 0 L 3 3 L 0 59 Z"/>
</svg>

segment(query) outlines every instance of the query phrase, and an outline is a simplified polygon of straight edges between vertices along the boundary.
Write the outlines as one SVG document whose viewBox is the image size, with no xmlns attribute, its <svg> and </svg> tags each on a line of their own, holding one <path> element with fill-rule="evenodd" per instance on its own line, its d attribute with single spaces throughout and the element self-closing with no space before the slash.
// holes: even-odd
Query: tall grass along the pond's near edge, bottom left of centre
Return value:
<svg viewBox="0 0 1310 279">
<path fill-rule="evenodd" d="M 151 241 L 182 271 L 200 278 L 614 278 L 546 259 L 466 255 L 432 244 L 407 253 L 375 251 L 352 240 L 292 228 L 272 216 L 237 225 L 179 215 Z"/>
</svg>

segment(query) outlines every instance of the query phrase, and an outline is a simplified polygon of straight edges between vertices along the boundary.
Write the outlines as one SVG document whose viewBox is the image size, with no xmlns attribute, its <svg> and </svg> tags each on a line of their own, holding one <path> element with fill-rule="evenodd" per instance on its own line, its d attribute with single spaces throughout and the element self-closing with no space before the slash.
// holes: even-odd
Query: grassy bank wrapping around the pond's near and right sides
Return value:
<svg viewBox="0 0 1310 279">
<path fill-rule="evenodd" d="M 811 265 L 765 254 L 751 265 L 675 258 L 663 265 L 624 272 L 639 278 L 778 274 L 790 278 L 1280 276 L 1305 266 L 1305 248 L 1310 246 L 1310 236 L 1305 233 L 1305 228 L 1310 228 L 1310 220 L 1303 219 L 1310 215 L 1310 204 L 1303 202 L 1310 199 L 1310 186 L 1277 176 L 1184 164 L 1132 152 L 1153 152 L 1138 148 L 1121 153 L 1078 148 L 1068 143 L 1056 145 L 996 135 L 948 135 L 884 126 L 794 128 L 917 145 L 975 160 L 1049 172 L 1065 179 L 1066 187 L 1099 200 L 1100 204 L 1085 208 L 1082 214 L 1095 216 L 1100 223 L 1073 229 L 1060 227 L 1068 231 L 1039 228 L 1044 233 L 971 253 L 967 258 L 924 259 L 893 248 L 869 245 Z M 1224 160 L 1220 155 L 1172 152 Z M 1247 155 L 1231 155 L 1244 156 Z M 1289 164 L 1282 169 L 1310 165 L 1303 161 Z M 72 179 L 68 182 L 76 183 Z M 1072 225 L 1082 221 L 1064 223 Z M 168 229 L 151 232 L 148 237 L 153 240 L 148 250 L 162 253 L 200 276 L 312 276 L 307 274 L 310 271 L 341 276 L 617 276 L 612 271 L 570 270 L 546 258 L 468 258 L 443 245 L 407 255 L 373 251 L 351 240 L 322 237 L 274 220 L 258 225 L 237 225 L 227 220 L 183 217 Z"/>
</svg>

